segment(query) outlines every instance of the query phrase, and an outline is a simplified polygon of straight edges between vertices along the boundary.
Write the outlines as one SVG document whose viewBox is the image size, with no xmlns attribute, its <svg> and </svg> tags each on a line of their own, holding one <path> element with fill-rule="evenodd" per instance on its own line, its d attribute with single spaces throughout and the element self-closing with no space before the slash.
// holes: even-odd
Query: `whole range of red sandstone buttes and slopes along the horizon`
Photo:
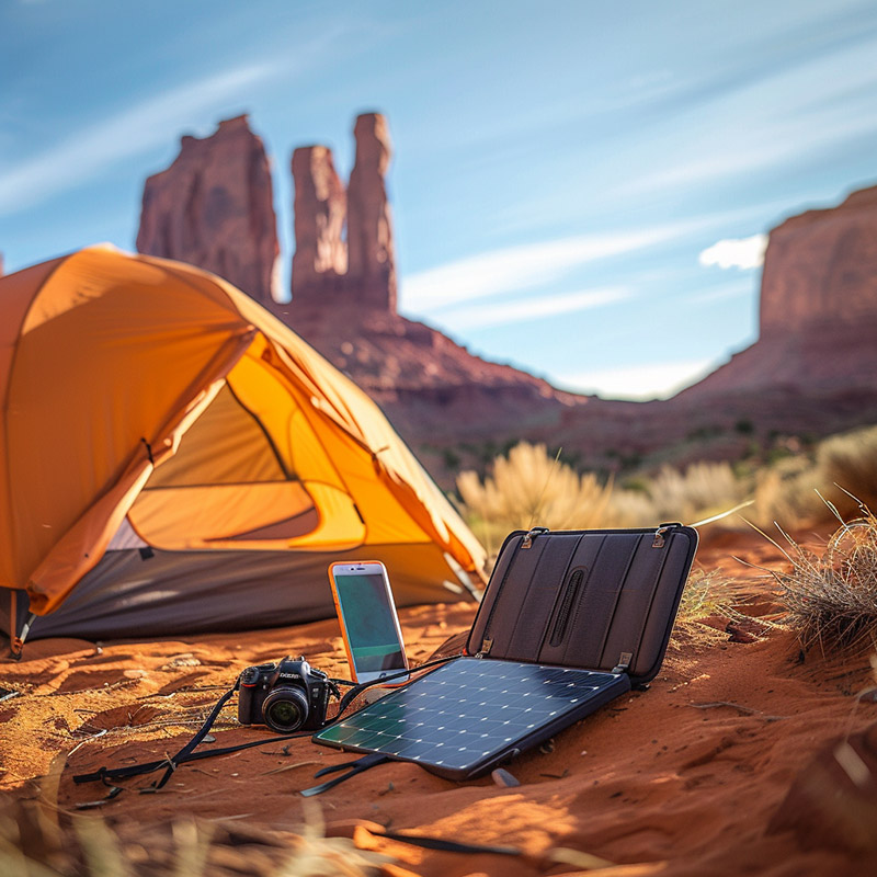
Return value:
<svg viewBox="0 0 877 877">
<path fill-rule="evenodd" d="M 877 187 L 771 231 L 752 346 L 673 399 L 622 402 L 563 392 L 400 316 L 386 119 L 358 116 L 354 136 L 346 187 L 328 147 L 293 153 L 292 301 L 276 301 L 271 283 L 271 178 L 244 116 L 183 138 L 171 168 L 147 181 L 138 249 L 250 292 L 378 401 L 440 482 L 521 438 L 612 469 L 658 452 L 676 463 L 734 458 L 753 437 L 829 434 L 877 417 Z M 227 194 L 205 209 L 213 185 Z"/>
</svg>

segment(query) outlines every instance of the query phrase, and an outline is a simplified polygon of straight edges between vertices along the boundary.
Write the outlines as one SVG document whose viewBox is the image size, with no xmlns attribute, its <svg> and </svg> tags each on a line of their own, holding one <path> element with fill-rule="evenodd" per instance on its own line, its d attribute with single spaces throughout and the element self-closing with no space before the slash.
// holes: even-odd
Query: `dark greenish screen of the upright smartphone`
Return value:
<svg viewBox="0 0 877 877">
<path fill-rule="evenodd" d="M 383 576 L 363 573 L 334 579 L 356 672 L 403 670 L 405 656 Z"/>
</svg>

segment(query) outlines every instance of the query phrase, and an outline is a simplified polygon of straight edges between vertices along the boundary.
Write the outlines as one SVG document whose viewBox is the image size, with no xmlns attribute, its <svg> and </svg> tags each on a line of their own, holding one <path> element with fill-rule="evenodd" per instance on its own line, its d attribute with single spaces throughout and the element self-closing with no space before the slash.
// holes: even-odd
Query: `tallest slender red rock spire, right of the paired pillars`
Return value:
<svg viewBox="0 0 877 877">
<path fill-rule="evenodd" d="M 356 117 L 356 161 L 348 186 L 348 284 L 360 304 L 396 312 L 396 258 L 385 176 L 391 146 L 379 113 Z"/>
</svg>

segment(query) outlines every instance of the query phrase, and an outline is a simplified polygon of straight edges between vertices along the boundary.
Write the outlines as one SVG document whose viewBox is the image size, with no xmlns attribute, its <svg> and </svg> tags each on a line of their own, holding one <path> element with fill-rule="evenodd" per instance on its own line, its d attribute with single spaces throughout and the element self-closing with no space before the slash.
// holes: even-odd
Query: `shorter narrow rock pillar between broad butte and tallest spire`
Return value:
<svg viewBox="0 0 877 877">
<path fill-rule="evenodd" d="M 293 152 L 295 180 L 293 289 L 296 306 L 330 306 L 342 292 L 348 250 L 342 240 L 348 197 L 326 146 Z"/>
</svg>

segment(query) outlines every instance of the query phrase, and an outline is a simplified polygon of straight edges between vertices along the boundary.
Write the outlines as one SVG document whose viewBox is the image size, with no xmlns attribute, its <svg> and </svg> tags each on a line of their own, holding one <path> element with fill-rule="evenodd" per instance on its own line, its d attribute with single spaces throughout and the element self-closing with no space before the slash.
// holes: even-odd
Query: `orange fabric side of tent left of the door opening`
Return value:
<svg viewBox="0 0 877 877">
<path fill-rule="evenodd" d="M 43 304 L 56 297 L 64 307 Z M 10 375 L 13 583 L 25 585 L 82 515 L 148 460 L 144 440 L 153 457 L 167 453 L 172 424 L 251 332 L 229 311 L 205 308 L 185 284 L 118 253 L 82 251 L 56 267 L 36 294 Z"/>
</svg>

